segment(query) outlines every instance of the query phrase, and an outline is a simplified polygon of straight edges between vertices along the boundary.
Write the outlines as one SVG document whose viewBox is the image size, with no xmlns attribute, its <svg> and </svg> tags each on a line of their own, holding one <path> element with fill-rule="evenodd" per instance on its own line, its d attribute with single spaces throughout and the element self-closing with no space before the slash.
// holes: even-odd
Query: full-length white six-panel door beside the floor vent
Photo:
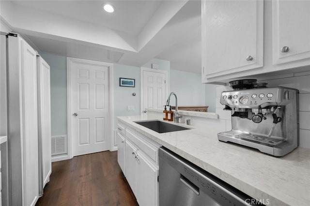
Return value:
<svg viewBox="0 0 310 206">
<path fill-rule="evenodd" d="M 109 150 L 109 66 L 85 59 L 70 61 L 72 155 Z"/>
</svg>

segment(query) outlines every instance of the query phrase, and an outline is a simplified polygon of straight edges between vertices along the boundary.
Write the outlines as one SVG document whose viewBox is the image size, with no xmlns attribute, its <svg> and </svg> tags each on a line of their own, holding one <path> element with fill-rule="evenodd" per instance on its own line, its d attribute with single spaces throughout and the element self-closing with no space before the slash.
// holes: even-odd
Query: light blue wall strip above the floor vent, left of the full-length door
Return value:
<svg viewBox="0 0 310 206">
<path fill-rule="evenodd" d="M 66 57 L 39 52 L 50 66 L 52 136 L 67 134 L 67 63 Z"/>
</svg>

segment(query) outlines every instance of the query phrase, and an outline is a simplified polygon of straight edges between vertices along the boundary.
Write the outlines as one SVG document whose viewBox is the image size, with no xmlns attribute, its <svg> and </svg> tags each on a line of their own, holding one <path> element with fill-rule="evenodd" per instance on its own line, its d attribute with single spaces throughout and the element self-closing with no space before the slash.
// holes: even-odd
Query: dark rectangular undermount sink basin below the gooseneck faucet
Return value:
<svg viewBox="0 0 310 206">
<path fill-rule="evenodd" d="M 142 125 L 143 127 L 149 128 L 158 133 L 165 133 L 165 132 L 176 132 L 182 130 L 190 130 L 190 128 L 181 127 L 174 124 L 169 124 L 166 122 L 158 121 L 158 120 L 151 120 L 151 121 L 135 121 L 137 124 Z"/>
</svg>

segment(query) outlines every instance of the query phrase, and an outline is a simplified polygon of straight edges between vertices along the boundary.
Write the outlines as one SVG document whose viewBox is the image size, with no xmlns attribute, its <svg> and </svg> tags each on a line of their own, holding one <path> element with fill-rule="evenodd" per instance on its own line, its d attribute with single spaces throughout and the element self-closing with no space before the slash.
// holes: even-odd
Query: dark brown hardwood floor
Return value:
<svg viewBox="0 0 310 206">
<path fill-rule="evenodd" d="M 117 151 L 52 163 L 50 181 L 36 206 L 138 206 L 117 163 Z"/>
</svg>

